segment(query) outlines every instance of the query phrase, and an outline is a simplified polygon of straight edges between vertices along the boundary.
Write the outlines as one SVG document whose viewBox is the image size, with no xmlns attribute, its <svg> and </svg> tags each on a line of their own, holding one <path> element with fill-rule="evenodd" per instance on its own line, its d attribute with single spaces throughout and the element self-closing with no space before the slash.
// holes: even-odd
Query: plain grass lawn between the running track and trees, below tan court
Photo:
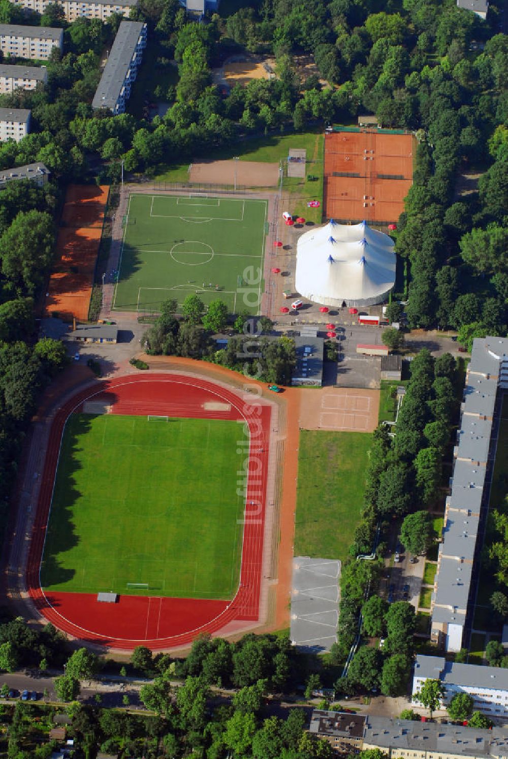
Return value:
<svg viewBox="0 0 508 759">
<path fill-rule="evenodd" d="M 370 446 L 365 433 L 301 430 L 295 556 L 349 556 Z"/>
</svg>

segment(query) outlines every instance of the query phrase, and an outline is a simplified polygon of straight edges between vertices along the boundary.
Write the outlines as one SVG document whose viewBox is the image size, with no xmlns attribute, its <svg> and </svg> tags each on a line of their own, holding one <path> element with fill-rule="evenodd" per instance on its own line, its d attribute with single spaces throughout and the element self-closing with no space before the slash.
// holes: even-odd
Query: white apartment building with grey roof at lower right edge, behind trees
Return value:
<svg viewBox="0 0 508 759">
<path fill-rule="evenodd" d="M 475 701 L 475 711 L 500 719 L 508 716 L 508 669 L 459 664 L 447 662 L 444 657 L 418 655 L 413 675 L 413 695 L 418 693 L 427 679 L 442 683 L 445 707 L 457 693 L 468 693 Z"/>
</svg>

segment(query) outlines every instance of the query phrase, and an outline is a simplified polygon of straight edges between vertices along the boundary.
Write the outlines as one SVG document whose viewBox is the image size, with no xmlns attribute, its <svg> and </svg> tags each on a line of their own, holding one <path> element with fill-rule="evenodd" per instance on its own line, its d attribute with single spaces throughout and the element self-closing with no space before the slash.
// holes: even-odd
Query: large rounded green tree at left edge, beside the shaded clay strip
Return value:
<svg viewBox="0 0 508 759">
<path fill-rule="evenodd" d="M 0 238 L 2 273 L 17 289 L 32 295 L 43 284 L 52 260 L 53 225 L 49 213 L 20 211 Z"/>
</svg>

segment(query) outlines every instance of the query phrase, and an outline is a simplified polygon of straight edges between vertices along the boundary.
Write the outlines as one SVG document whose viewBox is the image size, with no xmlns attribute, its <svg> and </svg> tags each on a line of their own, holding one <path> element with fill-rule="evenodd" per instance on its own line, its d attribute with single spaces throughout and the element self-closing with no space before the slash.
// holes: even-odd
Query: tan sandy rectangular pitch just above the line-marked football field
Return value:
<svg viewBox="0 0 508 759">
<path fill-rule="evenodd" d="M 262 161 L 201 161 L 191 164 L 189 181 L 197 184 L 236 184 L 237 187 L 276 187 L 279 183 L 279 164 Z"/>
</svg>

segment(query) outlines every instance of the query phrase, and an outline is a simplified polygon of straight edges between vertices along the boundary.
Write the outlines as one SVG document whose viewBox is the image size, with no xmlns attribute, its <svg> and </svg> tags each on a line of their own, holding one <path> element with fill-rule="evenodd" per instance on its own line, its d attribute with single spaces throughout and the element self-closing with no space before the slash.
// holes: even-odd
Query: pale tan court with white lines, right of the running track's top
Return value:
<svg viewBox="0 0 508 759">
<path fill-rule="evenodd" d="M 305 392 L 300 408 L 303 430 L 373 432 L 377 427 L 379 392 L 323 387 Z"/>
</svg>

